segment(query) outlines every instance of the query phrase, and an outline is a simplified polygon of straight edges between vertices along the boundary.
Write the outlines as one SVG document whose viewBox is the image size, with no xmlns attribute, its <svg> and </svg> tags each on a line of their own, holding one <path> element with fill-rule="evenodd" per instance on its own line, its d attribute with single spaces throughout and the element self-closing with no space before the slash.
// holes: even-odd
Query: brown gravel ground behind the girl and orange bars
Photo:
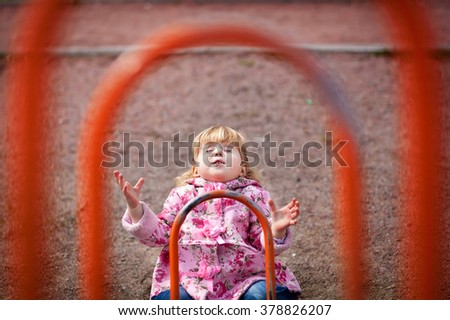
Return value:
<svg viewBox="0 0 450 320">
<path fill-rule="evenodd" d="M 448 2 L 431 8 L 433 22 L 441 43 L 449 43 L 450 14 Z M 12 24 L 17 7 L 0 7 L 0 48 L 14 33 Z M 306 43 L 388 43 L 384 21 L 368 4 L 286 4 L 286 5 L 200 5 L 152 6 L 149 4 L 80 5 L 67 18 L 63 30 L 63 45 L 126 45 L 140 39 L 157 27 L 174 21 L 246 22 L 250 25 L 284 34 L 294 42 Z M 397 200 L 398 181 L 402 165 L 398 163 L 402 135 L 398 132 L 397 111 L 399 85 L 397 61 L 389 56 L 370 54 L 316 54 L 318 63 L 332 74 L 335 82 L 348 95 L 354 116 L 361 124 L 362 166 L 366 190 L 363 213 L 367 222 L 366 283 L 370 299 L 402 297 L 402 273 L 399 269 L 402 238 L 401 204 Z M 52 234 L 53 263 L 48 266 L 54 277 L 49 279 L 49 299 L 76 299 L 76 214 L 75 176 L 76 143 L 80 123 L 90 95 L 115 57 L 61 57 L 53 62 L 52 76 L 55 116 L 49 125 L 58 132 L 53 152 L 58 161 L 53 165 L 53 188 L 56 191 L 49 229 Z M 444 83 L 443 101 L 448 120 L 450 64 L 447 58 L 438 61 Z M 0 85 L 5 86 L 7 62 L 0 64 Z M 4 101 L 4 92 L 0 101 Z M 326 111 L 317 88 L 295 73 L 285 62 L 274 56 L 258 53 L 185 54 L 168 58 L 161 67 L 149 72 L 131 92 L 126 109 L 112 130 L 112 140 L 122 141 L 129 132 L 134 141 L 171 141 L 178 132 L 182 137 L 214 124 L 234 127 L 248 138 L 261 141 L 266 133 L 278 143 L 292 141 L 299 151 L 307 141 L 325 142 L 329 130 Z M 1 103 L 4 109 L 4 103 Z M 3 110 L 2 110 L 3 112 Z M 5 127 L 3 117 L 0 125 Z M 446 137 L 449 122 L 443 129 Z M 446 138 L 447 142 L 447 138 Z M 122 148 L 126 149 L 126 148 Z M 0 148 L 3 155 L 7 151 Z M 131 181 L 144 177 L 143 199 L 159 211 L 173 187 L 173 178 L 183 169 L 171 163 L 166 168 L 146 165 L 138 168 L 137 153 L 131 156 L 129 168 L 119 169 Z M 323 158 L 318 152 L 315 156 Z M 159 155 L 156 155 L 156 159 Z M 449 207 L 449 152 L 443 167 L 443 206 Z M 293 227 L 292 248 L 281 258 L 298 277 L 303 299 L 340 299 L 339 248 L 335 240 L 332 171 L 326 166 L 308 168 L 299 165 L 285 168 L 292 159 L 272 154 L 277 167 L 262 165 L 264 185 L 277 203 L 296 196 L 302 203 L 302 215 Z M 2 172 L 6 169 L 2 167 Z M 112 170 L 111 170 L 112 171 Z M 120 225 L 124 200 L 108 178 L 110 185 L 110 238 L 113 252 L 111 274 L 107 277 L 110 298 L 147 299 L 151 274 L 158 249 L 139 244 Z M 4 190 L 2 182 L 1 188 Z M 0 198 L 4 207 L 4 198 Z M 0 211 L 2 238 L 5 210 Z M 448 210 L 447 210 L 448 213 Z M 450 265 L 449 219 L 444 229 L 447 242 L 442 244 Z M 3 250 L 4 241 L 0 245 Z M 1 253 L 1 251 L 0 251 Z M 4 257 L 4 254 L 1 254 Z M 2 258 L 1 268 L 8 268 Z M 0 271 L 0 298 L 7 299 L 8 281 Z M 450 298 L 450 282 L 443 285 L 443 295 Z"/>
</svg>

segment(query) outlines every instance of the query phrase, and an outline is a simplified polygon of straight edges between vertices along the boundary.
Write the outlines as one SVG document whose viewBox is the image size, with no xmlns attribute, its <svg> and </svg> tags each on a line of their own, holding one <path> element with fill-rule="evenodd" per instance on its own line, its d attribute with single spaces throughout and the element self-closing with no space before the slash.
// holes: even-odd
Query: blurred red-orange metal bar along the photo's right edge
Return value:
<svg viewBox="0 0 450 320">
<path fill-rule="evenodd" d="M 406 129 L 402 180 L 406 214 L 402 221 L 406 299 L 445 298 L 443 284 L 448 266 L 445 257 L 444 208 L 439 203 L 439 178 L 445 175 L 439 164 L 445 146 L 444 118 L 440 116 L 440 77 L 433 61 L 435 42 L 426 7 L 410 0 L 380 0 L 400 50 L 403 106 L 400 127 Z M 447 270 L 446 270 L 447 269 Z M 442 290 L 442 291 L 441 291 Z"/>
</svg>

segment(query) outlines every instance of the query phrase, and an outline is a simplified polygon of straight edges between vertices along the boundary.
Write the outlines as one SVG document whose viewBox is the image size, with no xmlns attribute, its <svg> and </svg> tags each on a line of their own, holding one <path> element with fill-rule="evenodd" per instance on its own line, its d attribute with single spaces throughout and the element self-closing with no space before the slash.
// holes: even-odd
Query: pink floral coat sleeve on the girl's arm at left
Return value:
<svg viewBox="0 0 450 320">
<path fill-rule="evenodd" d="M 178 188 L 170 192 L 164 202 L 162 212 L 158 215 L 142 201 L 141 205 L 144 211 L 142 218 L 138 222 L 132 223 L 127 209 L 122 218 L 122 226 L 148 247 L 167 245 L 173 221 L 183 207 Z"/>
</svg>

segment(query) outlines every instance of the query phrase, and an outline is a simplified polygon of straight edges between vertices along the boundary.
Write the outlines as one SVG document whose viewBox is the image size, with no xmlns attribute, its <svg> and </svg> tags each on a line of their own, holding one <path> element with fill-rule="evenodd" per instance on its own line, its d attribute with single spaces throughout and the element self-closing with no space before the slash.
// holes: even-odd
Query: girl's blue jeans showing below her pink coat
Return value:
<svg viewBox="0 0 450 320">
<path fill-rule="evenodd" d="M 277 300 L 297 300 L 297 294 L 289 291 L 288 288 L 276 286 Z M 170 290 L 161 292 L 152 297 L 151 300 L 170 300 Z M 194 300 L 187 291 L 180 286 L 180 300 Z M 266 281 L 260 280 L 252 284 L 239 300 L 266 300 Z"/>
</svg>

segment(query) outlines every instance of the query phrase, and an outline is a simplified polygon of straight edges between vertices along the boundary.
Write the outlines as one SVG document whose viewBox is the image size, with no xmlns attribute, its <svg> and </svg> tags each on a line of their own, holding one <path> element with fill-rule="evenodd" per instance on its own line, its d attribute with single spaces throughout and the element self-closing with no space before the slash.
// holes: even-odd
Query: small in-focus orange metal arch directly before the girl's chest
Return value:
<svg viewBox="0 0 450 320">
<path fill-rule="evenodd" d="M 170 231 L 169 240 L 169 261 L 170 261 L 170 299 L 179 300 L 180 292 L 177 290 L 180 285 L 180 275 L 178 271 L 178 235 L 180 228 L 188 213 L 196 206 L 210 199 L 231 198 L 246 205 L 258 218 L 264 232 L 264 245 L 266 251 L 266 297 L 267 300 L 276 300 L 276 279 L 275 279 L 275 252 L 273 247 L 273 236 L 269 221 L 256 203 L 237 192 L 228 190 L 216 190 L 202 194 L 189 201 L 175 218 Z"/>
</svg>

